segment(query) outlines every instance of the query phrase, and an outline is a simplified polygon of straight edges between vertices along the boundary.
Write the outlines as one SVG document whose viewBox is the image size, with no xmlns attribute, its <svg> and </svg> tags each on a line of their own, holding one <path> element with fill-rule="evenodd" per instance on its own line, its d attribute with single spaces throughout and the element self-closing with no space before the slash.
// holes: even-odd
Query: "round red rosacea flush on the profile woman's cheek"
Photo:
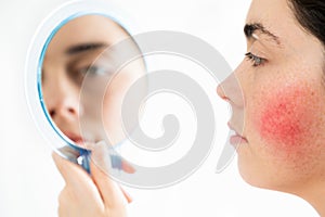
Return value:
<svg viewBox="0 0 325 217">
<path fill-rule="evenodd" d="M 320 93 L 310 86 L 289 85 L 265 93 L 260 105 L 258 131 L 277 151 L 298 151 L 317 131 Z"/>
</svg>

